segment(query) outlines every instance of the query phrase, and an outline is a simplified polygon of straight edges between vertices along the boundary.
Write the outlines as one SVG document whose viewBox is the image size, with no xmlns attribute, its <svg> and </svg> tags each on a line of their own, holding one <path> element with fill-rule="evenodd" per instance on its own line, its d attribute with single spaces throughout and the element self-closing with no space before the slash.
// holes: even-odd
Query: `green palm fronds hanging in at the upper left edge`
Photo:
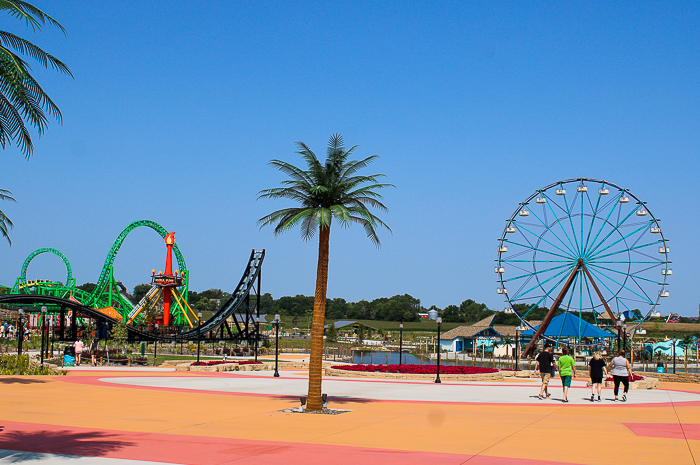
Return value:
<svg viewBox="0 0 700 465">
<path fill-rule="evenodd" d="M 0 11 L 24 21 L 34 32 L 46 23 L 65 34 L 58 21 L 22 0 L 0 0 Z M 34 146 L 27 125 L 34 126 L 39 135 L 48 125 L 45 111 L 62 121 L 61 111 L 30 74 L 31 67 L 19 55 L 29 56 L 44 68 L 52 68 L 73 76 L 68 67 L 33 43 L 7 31 L 0 31 L 0 145 L 5 148 L 14 140 L 25 158 L 32 156 Z M 26 120 L 26 123 L 25 123 Z M 0 200 L 12 200 L 11 193 L 0 189 Z M 0 211 L 0 234 L 7 238 L 12 221 Z M 11 242 L 10 242 L 11 243 Z"/>
</svg>

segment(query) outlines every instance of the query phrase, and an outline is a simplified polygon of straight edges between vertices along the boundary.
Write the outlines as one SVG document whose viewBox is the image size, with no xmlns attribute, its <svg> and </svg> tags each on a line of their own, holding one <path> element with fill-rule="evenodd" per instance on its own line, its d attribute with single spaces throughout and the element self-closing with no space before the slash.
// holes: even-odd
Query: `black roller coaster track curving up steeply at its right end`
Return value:
<svg viewBox="0 0 700 465">
<path fill-rule="evenodd" d="M 253 341 L 259 338 L 258 324 L 256 319 L 260 317 L 260 275 L 262 270 L 263 260 L 265 259 L 265 249 L 260 252 L 253 250 L 248 259 L 243 277 L 238 282 L 236 290 L 231 294 L 231 297 L 221 306 L 221 308 L 207 321 L 203 322 L 195 329 L 191 329 L 179 334 L 157 334 L 153 332 L 142 331 L 133 326 L 127 326 L 129 332 L 129 340 L 136 341 L 180 341 L 186 339 L 196 339 L 200 335 L 213 333 L 220 330 L 222 339 L 234 339 L 238 341 L 247 340 Z M 257 302 L 253 309 L 250 305 L 251 292 L 255 292 Z M 76 327 L 77 315 L 83 315 L 87 318 L 92 318 L 98 321 L 109 323 L 110 325 L 117 324 L 118 321 L 112 317 L 105 315 L 99 310 L 83 305 L 68 299 L 60 297 L 34 295 L 34 294 L 6 294 L 0 295 L 0 305 L 13 306 L 31 306 L 29 313 L 35 313 L 38 305 L 51 305 L 52 307 L 60 308 L 61 314 L 60 325 L 61 335 L 65 334 L 65 315 L 67 310 L 72 310 L 71 326 Z M 243 312 L 245 310 L 245 312 Z M 233 317 L 237 332 L 234 334 L 227 320 Z M 224 333 L 226 331 L 226 333 Z M 75 334 L 75 332 L 73 332 Z"/>
</svg>

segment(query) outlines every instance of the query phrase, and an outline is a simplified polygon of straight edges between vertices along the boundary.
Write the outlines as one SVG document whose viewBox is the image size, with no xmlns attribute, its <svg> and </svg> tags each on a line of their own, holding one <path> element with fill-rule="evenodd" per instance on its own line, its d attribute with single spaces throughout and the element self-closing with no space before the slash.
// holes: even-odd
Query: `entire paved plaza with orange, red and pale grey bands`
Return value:
<svg viewBox="0 0 700 465">
<path fill-rule="evenodd" d="M 303 370 L 190 373 L 120 368 L 0 377 L 0 463 L 693 464 L 700 386 L 663 383 L 590 402 L 577 380 L 539 400 L 536 379 L 325 377 L 340 415 L 281 412 Z"/>
</svg>

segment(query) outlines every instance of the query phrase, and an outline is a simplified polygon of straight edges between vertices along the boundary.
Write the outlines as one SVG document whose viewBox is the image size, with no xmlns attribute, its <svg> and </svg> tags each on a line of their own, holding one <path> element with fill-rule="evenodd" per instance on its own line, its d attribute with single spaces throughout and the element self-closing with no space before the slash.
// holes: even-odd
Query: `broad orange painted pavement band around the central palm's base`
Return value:
<svg viewBox="0 0 700 465">
<path fill-rule="evenodd" d="M 298 406 L 295 398 L 144 389 L 97 381 L 124 376 L 216 378 L 220 374 L 120 371 L 72 372 L 52 378 L 0 377 L 0 418 L 36 424 L 37 428 L 55 425 L 173 438 L 460 454 L 466 456 L 467 463 L 476 463 L 475 459 L 483 456 L 577 464 L 692 464 L 694 456 L 700 457 L 700 439 L 678 434 L 687 425 L 688 437 L 699 438 L 700 407 L 695 404 L 333 401 L 331 407 L 353 411 L 334 416 L 300 415 L 277 412 Z M 80 381 L 78 378 L 86 383 L 70 382 Z M 700 392 L 700 386 L 692 384 L 664 383 L 662 387 Z M 631 391 L 630 397 L 634 393 Z M 177 444 L 174 441 L 172 447 Z M 624 453 L 620 453 L 621 446 Z M 9 448 L 7 444 L 3 447 Z M 327 453 L 328 449 L 323 450 Z"/>
</svg>

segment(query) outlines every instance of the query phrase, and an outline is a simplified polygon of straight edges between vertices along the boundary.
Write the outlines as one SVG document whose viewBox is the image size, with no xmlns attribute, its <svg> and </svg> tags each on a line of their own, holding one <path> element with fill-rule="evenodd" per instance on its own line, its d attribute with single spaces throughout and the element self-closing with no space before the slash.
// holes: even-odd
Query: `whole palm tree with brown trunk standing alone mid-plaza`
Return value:
<svg viewBox="0 0 700 465">
<path fill-rule="evenodd" d="M 331 136 L 326 151 L 326 161 L 321 163 L 316 154 L 303 142 L 297 142 L 298 154 L 306 162 L 306 170 L 280 160 L 270 165 L 282 171 L 290 179 L 283 187 L 259 192 L 260 198 L 290 199 L 299 203 L 297 207 L 284 208 L 261 218 L 261 228 L 275 225 L 275 235 L 289 229 L 301 227 L 301 236 L 308 241 L 318 229 L 318 266 L 316 270 L 316 293 L 314 298 L 313 324 L 311 327 L 311 357 L 309 364 L 309 394 L 307 410 L 322 408 L 321 371 L 323 355 L 323 323 L 326 314 L 326 288 L 328 284 L 328 249 L 331 222 L 335 218 L 343 227 L 360 224 L 367 237 L 380 246 L 375 229 L 389 227 L 369 207 L 387 211 L 377 190 L 393 187 L 378 181 L 382 174 L 359 176 L 357 172 L 372 163 L 377 156 L 364 160 L 349 161 L 355 147 L 345 150 L 340 134 Z M 391 231 L 391 229 L 389 229 Z"/>
</svg>

